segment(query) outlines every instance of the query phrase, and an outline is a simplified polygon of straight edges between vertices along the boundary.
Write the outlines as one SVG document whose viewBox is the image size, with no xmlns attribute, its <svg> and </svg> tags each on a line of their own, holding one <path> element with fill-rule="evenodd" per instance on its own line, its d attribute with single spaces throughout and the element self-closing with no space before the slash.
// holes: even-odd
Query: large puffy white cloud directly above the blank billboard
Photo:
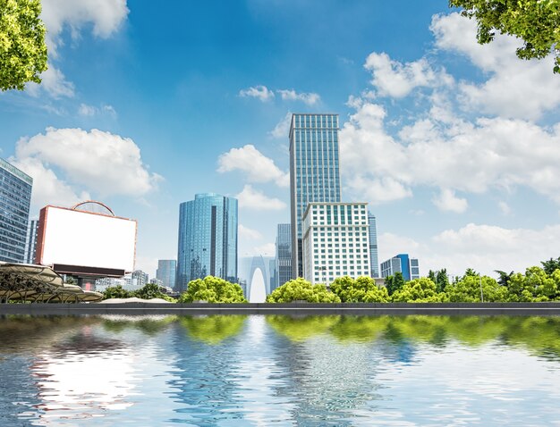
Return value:
<svg viewBox="0 0 560 427">
<path fill-rule="evenodd" d="M 33 177 L 38 207 L 55 201 L 71 205 L 68 201 L 89 198 L 89 192 L 141 197 L 161 180 L 148 172 L 131 138 L 95 129 L 47 128 L 45 134 L 21 138 L 11 160 Z"/>
</svg>

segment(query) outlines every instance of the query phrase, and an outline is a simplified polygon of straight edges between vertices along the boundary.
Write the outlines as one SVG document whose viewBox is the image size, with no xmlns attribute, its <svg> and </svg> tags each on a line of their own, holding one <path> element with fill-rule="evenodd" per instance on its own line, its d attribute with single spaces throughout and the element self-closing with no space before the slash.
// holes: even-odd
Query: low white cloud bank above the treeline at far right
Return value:
<svg viewBox="0 0 560 427">
<path fill-rule="evenodd" d="M 527 267 L 556 257 L 558 239 L 560 224 L 529 230 L 469 223 L 459 230 L 444 230 L 422 244 L 384 233 L 379 236 L 379 251 L 380 261 L 397 253 L 417 256 L 422 275 L 440 268 L 460 275 L 471 267 L 496 277 L 495 270 L 524 272 Z"/>
</svg>

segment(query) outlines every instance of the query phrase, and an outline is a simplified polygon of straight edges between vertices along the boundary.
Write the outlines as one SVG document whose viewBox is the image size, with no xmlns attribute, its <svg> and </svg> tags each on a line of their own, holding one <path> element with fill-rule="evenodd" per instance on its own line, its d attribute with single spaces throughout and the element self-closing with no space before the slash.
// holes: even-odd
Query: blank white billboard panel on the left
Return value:
<svg viewBox="0 0 560 427">
<path fill-rule="evenodd" d="M 39 264 L 134 270 L 136 221 L 46 207 Z"/>
</svg>

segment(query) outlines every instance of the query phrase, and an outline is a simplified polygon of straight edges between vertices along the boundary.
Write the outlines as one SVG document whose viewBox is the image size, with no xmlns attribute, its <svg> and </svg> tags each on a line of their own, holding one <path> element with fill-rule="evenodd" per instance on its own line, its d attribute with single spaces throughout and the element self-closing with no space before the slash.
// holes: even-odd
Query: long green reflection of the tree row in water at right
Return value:
<svg viewBox="0 0 560 427">
<path fill-rule="evenodd" d="M 341 343 L 384 341 L 396 347 L 424 343 L 468 347 L 497 343 L 560 358 L 560 318 L 553 316 L 267 316 L 279 334 L 297 342 L 328 333 Z"/>
</svg>

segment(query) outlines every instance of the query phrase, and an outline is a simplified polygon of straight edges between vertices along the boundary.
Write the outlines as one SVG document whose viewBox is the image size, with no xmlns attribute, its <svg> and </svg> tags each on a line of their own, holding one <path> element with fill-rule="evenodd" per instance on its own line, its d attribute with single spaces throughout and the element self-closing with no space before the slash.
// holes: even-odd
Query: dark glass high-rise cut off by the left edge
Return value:
<svg viewBox="0 0 560 427">
<path fill-rule="evenodd" d="M 25 262 L 33 180 L 0 159 L 0 261 Z"/>
</svg>

